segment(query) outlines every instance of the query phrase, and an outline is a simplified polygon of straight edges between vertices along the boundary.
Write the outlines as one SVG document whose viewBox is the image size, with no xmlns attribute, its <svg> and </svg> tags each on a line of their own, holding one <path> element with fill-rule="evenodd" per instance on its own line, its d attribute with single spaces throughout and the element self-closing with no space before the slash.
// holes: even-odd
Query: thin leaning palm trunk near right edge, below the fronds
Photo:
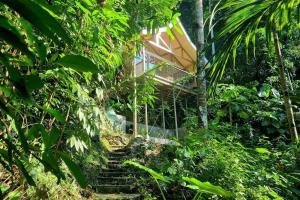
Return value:
<svg viewBox="0 0 300 200">
<path fill-rule="evenodd" d="M 276 60 L 277 60 L 277 65 L 278 65 L 280 87 L 281 87 L 281 92 L 283 94 L 285 112 L 286 112 L 286 117 L 287 117 L 288 124 L 289 124 L 289 131 L 291 134 L 292 141 L 298 143 L 298 133 L 297 133 L 296 123 L 295 123 L 295 118 L 294 118 L 294 112 L 293 112 L 291 100 L 289 97 L 289 92 L 287 89 L 287 83 L 286 83 L 285 73 L 284 73 L 285 66 L 283 64 L 283 58 L 282 58 L 281 49 L 280 49 L 278 32 L 277 32 L 275 23 L 273 25 L 273 37 L 274 37 L 274 45 L 275 45 L 275 50 L 276 50 Z"/>
</svg>

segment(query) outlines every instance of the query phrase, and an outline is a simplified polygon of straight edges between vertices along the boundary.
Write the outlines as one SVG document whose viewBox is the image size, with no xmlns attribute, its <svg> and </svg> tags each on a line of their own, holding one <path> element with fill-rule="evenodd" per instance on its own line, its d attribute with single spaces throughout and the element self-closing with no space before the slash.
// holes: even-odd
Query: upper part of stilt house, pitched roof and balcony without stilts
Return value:
<svg viewBox="0 0 300 200">
<path fill-rule="evenodd" d="M 196 87 L 196 47 L 178 20 L 155 34 L 144 30 L 144 45 L 135 58 L 136 76 L 153 74 L 165 88 L 193 93 Z"/>
</svg>

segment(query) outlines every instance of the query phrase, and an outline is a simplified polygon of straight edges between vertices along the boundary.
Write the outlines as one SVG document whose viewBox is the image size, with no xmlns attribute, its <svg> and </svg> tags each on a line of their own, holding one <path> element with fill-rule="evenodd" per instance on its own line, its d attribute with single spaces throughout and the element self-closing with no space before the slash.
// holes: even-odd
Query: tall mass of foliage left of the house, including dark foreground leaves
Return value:
<svg viewBox="0 0 300 200">
<path fill-rule="evenodd" d="M 60 182 L 68 177 L 65 163 L 86 185 L 75 160 L 101 134 L 122 51 L 139 40 L 146 24 L 154 30 L 176 17 L 175 1 L 140 2 L 153 12 L 138 15 L 135 4 L 0 0 L 0 162 L 7 173 L 17 167 L 22 180 L 36 185 L 31 170 L 38 167 Z"/>
</svg>

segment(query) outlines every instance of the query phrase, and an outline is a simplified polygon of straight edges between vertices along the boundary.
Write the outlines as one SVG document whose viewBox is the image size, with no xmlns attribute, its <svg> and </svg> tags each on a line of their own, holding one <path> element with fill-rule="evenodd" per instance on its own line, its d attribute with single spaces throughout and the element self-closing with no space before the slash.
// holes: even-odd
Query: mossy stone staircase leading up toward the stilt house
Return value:
<svg viewBox="0 0 300 200">
<path fill-rule="evenodd" d="M 94 177 L 92 189 L 96 193 L 95 199 L 141 199 L 141 195 L 136 194 L 134 174 L 122 165 L 122 161 L 128 155 L 126 146 L 111 145 L 111 147 L 113 151 L 108 155 L 107 168 L 101 169 Z"/>
</svg>

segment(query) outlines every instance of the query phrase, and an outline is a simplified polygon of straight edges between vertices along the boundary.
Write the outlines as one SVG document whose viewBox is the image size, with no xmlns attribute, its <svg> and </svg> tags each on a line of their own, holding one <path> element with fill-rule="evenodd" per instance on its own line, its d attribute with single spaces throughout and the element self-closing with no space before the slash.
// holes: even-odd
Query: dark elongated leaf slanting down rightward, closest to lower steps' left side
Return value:
<svg viewBox="0 0 300 200">
<path fill-rule="evenodd" d="M 69 170 L 71 171 L 71 173 L 73 174 L 73 176 L 75 177 L 79 185 L 85 188 L 87 183 L 80 168 L 71 160 L 71 158 L 67 154 L 63 152 L 57 152 L 57 153 L 60 155 L 61 159 L 68 166 Z"/>
</svg>

